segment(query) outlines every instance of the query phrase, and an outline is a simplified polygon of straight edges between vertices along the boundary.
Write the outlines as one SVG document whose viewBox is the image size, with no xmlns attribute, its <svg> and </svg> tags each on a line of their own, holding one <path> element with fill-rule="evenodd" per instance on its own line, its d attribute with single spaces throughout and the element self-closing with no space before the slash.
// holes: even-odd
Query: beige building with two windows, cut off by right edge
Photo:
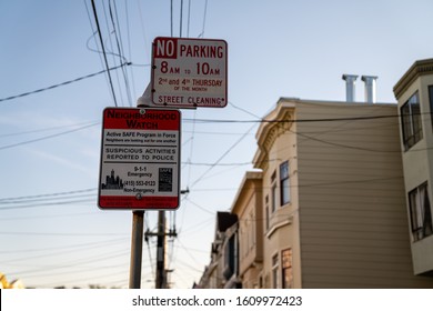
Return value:
<svg viewBox="0 0 433 311">
<path fill-rule="evenodd" d="M 416 61 L 394 87 L 414 273 L 433 275 L 433 59 Z"/>
</svg>

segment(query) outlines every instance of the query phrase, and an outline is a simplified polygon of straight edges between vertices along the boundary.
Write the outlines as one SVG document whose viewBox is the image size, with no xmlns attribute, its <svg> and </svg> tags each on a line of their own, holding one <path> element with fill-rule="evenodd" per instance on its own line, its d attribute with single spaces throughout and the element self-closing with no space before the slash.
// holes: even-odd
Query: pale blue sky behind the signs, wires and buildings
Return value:
<svg viewBox="0 0 433 311">
<path fill-rule="evenodd" d="M 109 1 L 95 3 L 107 49 L 117 51 Z M 175 37 L 180 3 L 173 0 Z M 395 102 L 393 86 L 433 51 L 431 0 L 183 4 L 183 37 L 203 33 L 228 42 L 231 104 L 182 111 L 181 188 L 190 194 L 168 215 L 179 231 L 168 244 L 174 288 L 199 281 L 210 260 L 215 212 L 230 209 L 256 149 L 252 123 L 194 119 L 254 120 L 280 97 L 343 101 L 343 73 L 377 76 L 377 101 Z M 135 106 L 150 81 L 152 40 L 171 36 L 170 0 L 111 6 L 123 54 L 133 63 L 127 68 L 132 100 L 121 70 L 111 71 L 115 94 L 120 107 Z M 90 0 L 0 1 L 0 100 L 103 70 L 100 54 L 91 51 L 99 49 L 94 29 Z M 118 57 L 108 61 L 119 66 Z M 360 79 L 356 99 L 363 100 Z M 131 212 L 100 211 L 95 203 L 100 122 L 102 110 L 112 106 L 104 74 L 0 101 L 0 271 L 8 279 L 29 287 L 128 285 Z M 155 212 L 147 213 L 150 230 L 155 221 Z M 154 285 L 154 264 L 150 240 L 143 288 Z"/>
</svg>

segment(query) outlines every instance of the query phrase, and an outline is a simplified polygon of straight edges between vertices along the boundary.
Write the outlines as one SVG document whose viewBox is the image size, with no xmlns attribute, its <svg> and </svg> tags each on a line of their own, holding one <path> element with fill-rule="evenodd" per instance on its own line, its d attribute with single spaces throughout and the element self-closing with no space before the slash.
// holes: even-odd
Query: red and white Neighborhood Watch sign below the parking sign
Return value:
<svg viewBox="0 0 433 311">
<path fill-rule="evenodd" d="M 179 208 L 180 124 L 179 110 L 104 109 L 98 198 L 101 209 Z"/>
</svg>

